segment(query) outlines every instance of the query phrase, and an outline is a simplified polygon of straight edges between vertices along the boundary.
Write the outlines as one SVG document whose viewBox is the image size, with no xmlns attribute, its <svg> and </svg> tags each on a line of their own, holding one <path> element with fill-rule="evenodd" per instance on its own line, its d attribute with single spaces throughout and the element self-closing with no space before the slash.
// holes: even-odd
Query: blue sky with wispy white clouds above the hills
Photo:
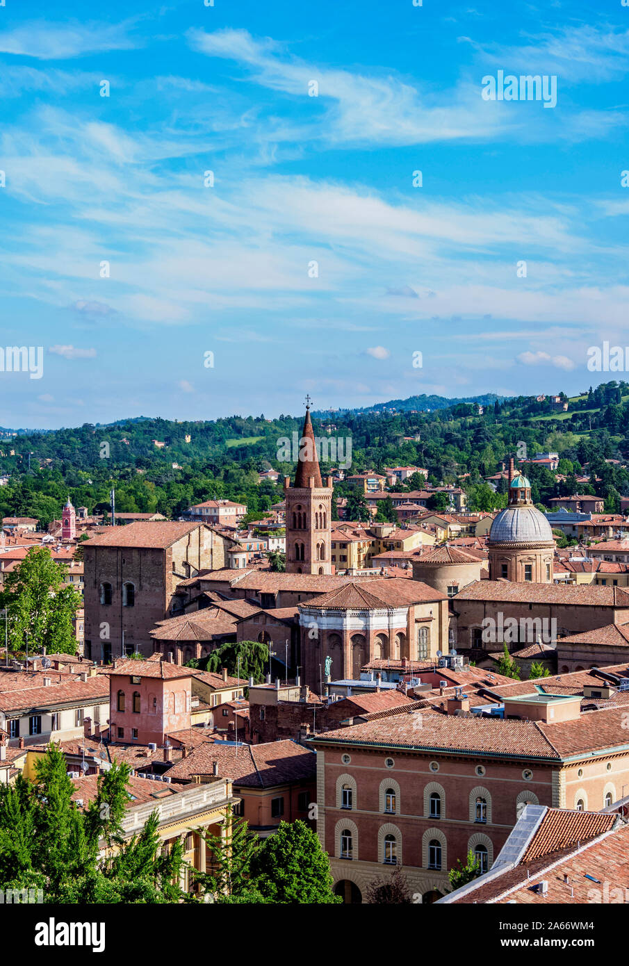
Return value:
<svg viewBox="0 0 629 966">
<path fill-rule="evenodd" d="M 0 346 L 45 351 L 1 424 L 615 378 L 586 354 L 627 341 L 621 0 L 88 9 L 0 7 Z M 483 99 L 498 71 L 557 106 Z"/>
</svg>

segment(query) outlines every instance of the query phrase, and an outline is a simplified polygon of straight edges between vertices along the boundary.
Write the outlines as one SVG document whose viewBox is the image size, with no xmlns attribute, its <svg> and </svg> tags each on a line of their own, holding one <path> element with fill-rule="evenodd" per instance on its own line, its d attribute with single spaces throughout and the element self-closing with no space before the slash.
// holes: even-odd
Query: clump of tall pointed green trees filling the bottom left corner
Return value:
<svg viewBox="0 0 629 966">
<path fill-rule="evenodd" d="M 129 765 L 115 764 L 100 776 L 96 798 L 85 810 L 71 799 L 74 785 L 56 745 L 48 746 L 35 769 L 34 781 L 20 774 L 14 784 L 0 785 L 1 888 L 39 888 L 44 901 L 53 903 L 190 899 L 178 885 L 182 842 L 160 854 L 157 812 L 125 839 Z"/>
</svg>

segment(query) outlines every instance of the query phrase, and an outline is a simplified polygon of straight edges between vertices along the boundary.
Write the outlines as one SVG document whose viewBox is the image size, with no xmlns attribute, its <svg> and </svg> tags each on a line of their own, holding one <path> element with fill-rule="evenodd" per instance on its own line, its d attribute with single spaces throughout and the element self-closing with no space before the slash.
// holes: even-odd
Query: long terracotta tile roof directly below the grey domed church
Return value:
<svg viewBox="0 0 629 966">
<path fill-rule="evenodd" d="M 474 581 L 459 591 L 454 600 L 519 601 L 533 604 L 564 604 L 570 607 L 629 608 L 629 593 L 620 587 L 580 583 L 512 583 Z"/>
</svg>

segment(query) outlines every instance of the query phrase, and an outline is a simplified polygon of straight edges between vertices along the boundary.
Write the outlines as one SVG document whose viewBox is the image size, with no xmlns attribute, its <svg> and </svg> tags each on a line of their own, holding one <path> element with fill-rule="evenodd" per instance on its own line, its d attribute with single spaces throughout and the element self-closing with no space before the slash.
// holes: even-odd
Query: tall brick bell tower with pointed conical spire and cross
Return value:
<svg viewBox="0 0 629 966">
<path fill-rule="evenodd" d="M 294 437 L 297 437 L 297 433 Z M 321 479 L 309 396 L 306 397 L 295 484 L 291 486 L 290 476 L 284 477 L 284 497 L 286 573 L 331 574 L 329 534 L 332 480 L 328 476 L 324 486 Z"/>
</svg>

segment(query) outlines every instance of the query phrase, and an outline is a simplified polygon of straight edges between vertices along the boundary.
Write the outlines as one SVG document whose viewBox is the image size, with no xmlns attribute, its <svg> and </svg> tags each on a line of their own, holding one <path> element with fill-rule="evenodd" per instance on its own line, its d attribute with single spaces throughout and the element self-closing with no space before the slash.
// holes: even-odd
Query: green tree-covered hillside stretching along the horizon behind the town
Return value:
<svg viewBox="0 0 629 966">
<path fill-rule="evenodd" d="M 601 482 L 580 483 L 578 490 L 596 491 L 606 498 L 606 508 L 615 509 L 619 495 L 629 494 L 629 475 L 621 465 L 629 455 L 629 384 L 610 382 L 563 398 L 566 412 L 550 398 L 519 396 L 496 398 L 482 414 L 475 401 L 450 401 L 433 412 L 334 413 L 333 429 L 329 414 L 323 420 L 315 416 L 313 423 L 323 439 L 343 440 L 345 446 L 351 439 L 347 472 L 420 466 L 428 469 L 431 483 L 464 485 L 478 509 L 496 502 L 483 478 L 496 473 L 505 457 L 522 455 L 525 448 L 529 456 L 556 451 L 558 472 L 567 478 L 558 482 L 548 469 L 528 468 L 535 502 L 548 505 L 551 497 L 575 493 L 576 476 L 587 468 Z M 45 525 L 59 518 L 69 495 L 75 506 L 99 512 L 114 487 L 120 512 L 176 518 L 190 502 L 226 497 L 260 514 L 281 499 L 282 490 L 269 481 L 259 484 L 258 472 L 273 467 L 282 475 L 294 473 L 294 464 L 278 461 L 278 440 L 299 434 L 301 422 L 301 415 L 204 422 L 141 417 L 0 440 L 0 472 L 10 476 L 0 488 L 0 512 L 37 517 Z M 156 446 L 156 440 L 164 445 Z M 324 460 L 322 469 L 338 462 Z M 421 484 L 421 477 L 411 478 L 406 489 Z M 342 484 L 337 488 L 337 496 L 346 492 Z"/>
</svg>

